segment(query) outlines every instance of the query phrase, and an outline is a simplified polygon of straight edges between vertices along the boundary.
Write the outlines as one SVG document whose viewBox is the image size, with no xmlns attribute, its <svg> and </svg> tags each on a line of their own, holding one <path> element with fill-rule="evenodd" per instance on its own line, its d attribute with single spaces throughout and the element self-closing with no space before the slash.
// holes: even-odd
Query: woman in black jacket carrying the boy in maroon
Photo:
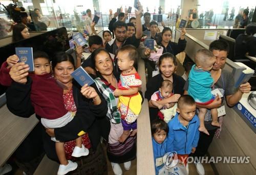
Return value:
<svg viewBox="0 0 256 175">
<path fill-rule="evenodd" d="M 9 110 L 20 117 L 30 117 L 34 113 L 30 101 L 31 79 L 27 77 L 27 64 L 17 63 L 10 70 L 10 76 L 13 83 L 6 92 L 7 106 Z M 98 121 L 104 116 L 108 110 L 106 102 L 103 100 L 92 86 L 84 85 L 82 88 L 78 85 L 70 73 L 75 69 L 73 57 L 65 52 L 58 53 L 52 61 L 52 70 L 55 79 L 63 86 L 63 101 L 67 110 L 76 112 L 79 108 L 79 113 L 76 113 L 74 119 L 66 126 L 55 129 L 47 129 L 47 133 L 57 140 L 65 143 L 66 158 L 71 159 L 71 154 L 75 146 L 74 140 L 80 136 L 81 131 L 83 143 L 89 148 L 89 155 L 78 160 L 78 166 L 75 174 L 104 174 L 106 172 L 106 161 L 100 146 L 100 126 Z M 43 93 L 43 92 L 42 92 Z M 88 103 L 82 108 L 79 104 Z M 47 156 L 57 161 L 55 152 L 55 143 L 51 141 L 51 137 L 42 133 L 44 148 Z M 38 136 L 41 137 L 41 136 Z M 36 145 L 35 145 L 36 146 Z"/>
</svg>

